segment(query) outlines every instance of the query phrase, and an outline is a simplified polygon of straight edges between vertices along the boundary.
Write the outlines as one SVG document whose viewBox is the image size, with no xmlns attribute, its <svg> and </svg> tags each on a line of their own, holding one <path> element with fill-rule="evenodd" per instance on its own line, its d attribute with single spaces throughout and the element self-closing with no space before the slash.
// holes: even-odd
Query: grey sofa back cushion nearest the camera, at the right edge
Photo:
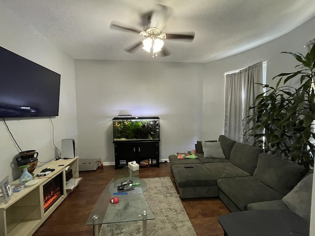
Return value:
<svg viewBox="0 0 315 236">
<path fill-rule="evenodd" d="M 303 178 L 282 201 L 291 211 L 310 222 L 313 174 Z"/>
</svg>

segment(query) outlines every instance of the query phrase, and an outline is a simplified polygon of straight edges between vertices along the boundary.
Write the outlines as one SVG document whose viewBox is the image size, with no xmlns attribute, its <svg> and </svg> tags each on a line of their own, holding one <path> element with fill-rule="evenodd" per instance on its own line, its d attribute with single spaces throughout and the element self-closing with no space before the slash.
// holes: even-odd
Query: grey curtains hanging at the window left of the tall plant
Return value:
<svg viewBox="0 0 315 236">
<path fill-rule="evenodd" d="M 247 124 L 246 117 L 249 107 L 255 97 L 263 92 L 262 62 L 251 65 L 237 73 L 225 76 L 225 120 L 224 135 L 237 142 L 252 145 L 248 140 L 247 130 L 252 124 Z"/>
</svg>

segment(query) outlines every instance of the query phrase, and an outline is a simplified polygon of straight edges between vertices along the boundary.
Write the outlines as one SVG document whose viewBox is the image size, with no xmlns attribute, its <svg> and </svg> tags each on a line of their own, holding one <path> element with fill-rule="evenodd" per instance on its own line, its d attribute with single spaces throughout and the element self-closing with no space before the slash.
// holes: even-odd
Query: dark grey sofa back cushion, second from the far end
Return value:
<svg viewBox="0 0 315 236">
<path fill-rule="evenodd" d="M 258 155 L 261 152 L 261 148 L 235 143 L 231 150 L 230 162 L 252 175 L 257 165 Z"/>
</svg>

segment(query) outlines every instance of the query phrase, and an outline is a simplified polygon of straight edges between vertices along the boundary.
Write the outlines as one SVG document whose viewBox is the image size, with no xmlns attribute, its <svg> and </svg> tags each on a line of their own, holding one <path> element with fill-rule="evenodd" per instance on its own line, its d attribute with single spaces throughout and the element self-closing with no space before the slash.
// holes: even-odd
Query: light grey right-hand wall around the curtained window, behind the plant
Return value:
<svg viewBox="0 0 315 236">
<path fill-rule="evenodd" d="M 231 35 L 233 36 L 233 35 Z M 226 59 L 204 64 L 202 139 L 217 139 L 224 131 L 224 73 L 247 67 L 259 61 L 267 63 L 267 84 L 282 72 L 292 72 L 299 64 L 281 52 L 307 53 L 304 45 L 315 37 L 315 17 L 284 36 L 260 47 Z"/>
</svg>

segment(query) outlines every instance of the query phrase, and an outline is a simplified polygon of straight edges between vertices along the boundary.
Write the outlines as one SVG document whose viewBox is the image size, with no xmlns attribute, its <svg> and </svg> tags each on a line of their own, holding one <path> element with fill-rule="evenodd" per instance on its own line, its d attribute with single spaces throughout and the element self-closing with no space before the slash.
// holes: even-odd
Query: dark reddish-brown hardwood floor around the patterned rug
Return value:
<svg viewBox="0 0 315 236">
<path fill-rule="evenodd" d="M 104 166 L 103 170 L 80 172 L 79 176 L 83 179 L 78 187 L 33 236 L 93 236 L 92 226 L 86 226 L 85 223 L 99 195 L 115 173 L 114 166 Z M 169 176 L 176 186 L 170 163 L 161 163 L 159 168 L 140 168 L 139 171 L 141 178 L 165 176 Z M 182 204 L 197 236 L 223 236 L 218 217 L 229 213 L 229 210 L 219 199 L 187 199 L 182 201 Z"/>
</svg>

